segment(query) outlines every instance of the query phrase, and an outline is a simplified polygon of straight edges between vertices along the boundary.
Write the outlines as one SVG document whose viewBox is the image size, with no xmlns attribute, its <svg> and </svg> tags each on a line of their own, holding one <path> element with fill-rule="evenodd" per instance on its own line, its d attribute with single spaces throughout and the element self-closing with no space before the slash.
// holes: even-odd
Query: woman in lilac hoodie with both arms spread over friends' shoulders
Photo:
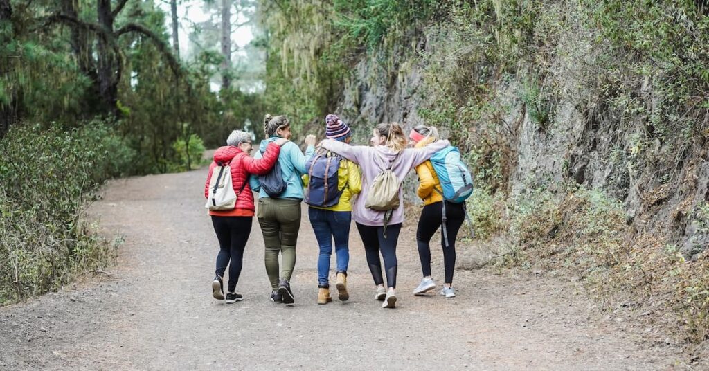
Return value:
<svg viewBox="0 0 709 371">
<path fill-rule="evenodd" d="M 384 170 L 391 171 L 399 180 L 398 199 L 403 205 L 401 180 L 416 165 L 428 160 L 438 150 L 450 144 L 448 140 L 439 140 L 424 148 L 406 148 L 406 136 L 398 123 L 380 123 L 372 131 L 372 146 L 348 145 L 333 139 L 323 140 L 325 150 L 330 150 L 342 157 L 359 164 L 362 169 L 362 193 L 354 203 L 352 218 L 357 224 L 357 231 L 362 237 L 367 264 L 376 285 L 375 299 L 383 300 L 382 308 L 396 306 L 396 243 L 403 223 L 403 206 L 393 211 L 375 211 L 364 206 L 374 178 Z M 391 214 L 391 215 L 386 215 Z M 388 221 L 386 219 L 389 218 Z M 381 276 L 381 260 L 384 259 L 386 286 Z"/>
</svg>

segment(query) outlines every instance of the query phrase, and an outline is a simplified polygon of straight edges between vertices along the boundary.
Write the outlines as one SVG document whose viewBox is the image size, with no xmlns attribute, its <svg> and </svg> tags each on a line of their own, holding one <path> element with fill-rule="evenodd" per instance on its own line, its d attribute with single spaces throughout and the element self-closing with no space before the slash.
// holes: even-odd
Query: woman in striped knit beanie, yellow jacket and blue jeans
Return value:
<svg viewBox="0 0 709 371">
<path fill-rule="evenodd" d="M 328 115 L 325 118 L 327 127 L 325 136 L 331 139 L 350 143 L 352 131 L 339 117 Z M 334 154 L 333 154 L 334 155 Z M 308 175 L 303 176 L 308 184 Z M 362 177 L 359 167 L 354 162 L 345 158 L 340 159 L 340 168 L 337 170 L 337 189 L 342 189 L 340 200 L 335 206 L 308 208 L 313 231 L 320 245 L 318 256 L 318 304 L 327 304 L 332 301 L 330 297 L 330 256 L 333 254 L 333 239 L 335 240 L 335 254 L 337 255 L 337 298 L 346 301 L 350 299 L 347 292 L 347 265 L 350 262 L 350 224 L 352 223 L 352 198 L 362 191 Z"/>
</svg>

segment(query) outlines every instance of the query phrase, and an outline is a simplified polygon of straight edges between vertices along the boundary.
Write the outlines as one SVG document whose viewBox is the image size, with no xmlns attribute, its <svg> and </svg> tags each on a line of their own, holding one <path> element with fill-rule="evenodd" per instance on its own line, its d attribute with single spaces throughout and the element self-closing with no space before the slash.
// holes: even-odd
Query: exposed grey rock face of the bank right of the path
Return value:
<svg viewBox="0 0 709 371">
<path fill-rule="evenodd" d="M 445 52 L 446 43 L 454 42 L 449 36 L 432 27 L 409 50 L 357 63 L 338 111 L 352 123 L 360 143 L 366 143 L 376 123 L 397 121 L 407 130 L 425 123 L 421 109 L 435 106 L 440 99 L 429 94 L 426 76 L 431 61 L 444 58 L 439 53 Z M 504 123 L 493 128 L 495 138 L 509 157 L 503 177 L 506 189 L 498 192 L 512 199 L 538 187 L 554 194 L 564 194 L 569 185 L 601 189 L 623 202 L 631 238 L 651 232 L 681 245 L 683 255 L 691 258 L 709 243 L 705 221 L 696 217 L 699 206 L 709 199 L 705 133 L 662 128 L 664 133 L 657 134 L 661 123 L 648 119 L 648 111 L 662 109 L 652 80 L 625 75 L 622 58 L 617 62 L 618 76 L 594 77 L 593 66 L 606 57 L 605 52 L 602 43 L 591 43 L 590 35 L 571 33 L 556 40 L 542 83 L 549 89 L 544 96 L 547 106 L 542 107 L 549 118 L 543 123 L 535 118 L 535 107 L 530 107 L 534 102 L 523 99 L 524 77 L 486 77 L 489 99 L 498 106 L 498 119 Z M 609 96 L 613 92 L 605 84 L 608 79 L 630 86 L 631 101 L 623 104 Z M 637 104 L 646 111 L 630 111 Z M 490 122 L 471 121 L 466 130 L 490 131 Z"/>
</svg>

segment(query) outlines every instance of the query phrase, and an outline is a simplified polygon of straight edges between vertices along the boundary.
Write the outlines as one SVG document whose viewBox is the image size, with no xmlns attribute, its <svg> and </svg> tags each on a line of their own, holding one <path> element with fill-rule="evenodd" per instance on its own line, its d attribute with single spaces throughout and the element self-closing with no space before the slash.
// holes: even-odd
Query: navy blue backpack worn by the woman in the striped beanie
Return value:
<svg viewBox="0 0 709 371">
<path fill-rule="evenodd" d="M 345 190 L 337 189 L 337 170 L 340 170 L 342 157 L 335 153 L 318 153 L 306 162 L 308 170 L 308 194 L 305 202 L 311 206 L 330 207 L 340 202 L 340 196 Z"/>
</svg>

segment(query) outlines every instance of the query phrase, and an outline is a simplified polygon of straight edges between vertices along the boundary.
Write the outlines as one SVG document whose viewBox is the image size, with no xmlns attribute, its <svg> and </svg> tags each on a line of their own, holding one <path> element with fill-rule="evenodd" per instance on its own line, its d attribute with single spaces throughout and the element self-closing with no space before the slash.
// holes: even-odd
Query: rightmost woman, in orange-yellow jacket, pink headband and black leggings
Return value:
<svg viewBox="0 0 709 371">
<path fill-rule="evenodd" d="M 420 125 L 413 128 L 409 134 L 409 138 L 416 148 L 420 148 L 437 141 L 438 131 L 433 126 Z M 454 204 L 443 199 L 440 180 L 430 160 L 418 165 L 416 167 L 416 174 L 418 174 L 420 182 L 418 185 L 418 196 L 423 199 L 424 204 L 423 211 L 421 211 L 421 216 L 418 219 L 418 229 L 416 230 L 416 244 L 418 245 L 418 257 L 421 260 L 423 279 L 418 287 L 413 290 L 413 293 L 420 295 L 436 287 L 435 282 L 433 282 L 431 278 L 431 250 L 429 243 L 433 234 L 438 230 L 438 227 L 442 225 L 443 203 L 445 202 L 445 225 L 449 243 L 448 246 L 446 246 L 445 240 L 443 236 L 441 236 L 445 283 L 440 294 L 445 297 L 455 297 L 455 291 L 452 287 L 453 270 L 455 268 L 455 238 L 465 221 L 464 203 Z"/>
</svg>

